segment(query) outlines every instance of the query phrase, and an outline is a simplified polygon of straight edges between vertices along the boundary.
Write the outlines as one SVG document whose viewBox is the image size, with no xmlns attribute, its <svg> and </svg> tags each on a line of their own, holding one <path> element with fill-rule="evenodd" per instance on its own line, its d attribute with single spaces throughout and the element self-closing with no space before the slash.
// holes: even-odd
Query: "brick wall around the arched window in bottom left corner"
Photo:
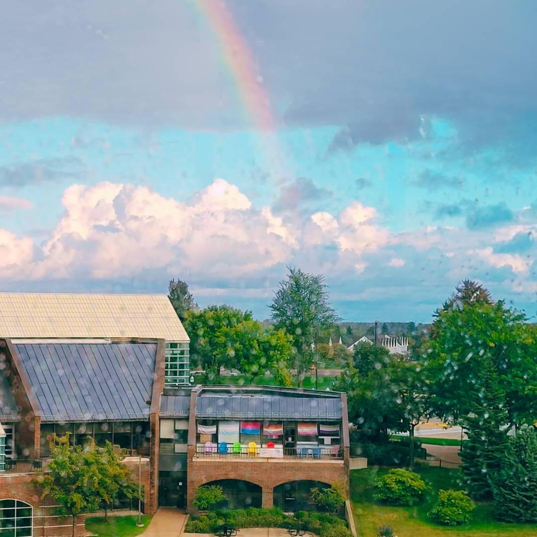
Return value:
<svg viewBox="0 0 537 537">
<path fill-rule="evenodd" d="M 62 537 L 71 535 L 71 517 L 54 514 L 52 498 L 41 498 L 41 487 L 33 483 L 35 474 L 10 474 L 0 476 L 0 499 L 17 499 L 33 507 L 34 537 Z M 77 517 L 76 537 L 85 534 L 84 516 Z"/>
</svg>

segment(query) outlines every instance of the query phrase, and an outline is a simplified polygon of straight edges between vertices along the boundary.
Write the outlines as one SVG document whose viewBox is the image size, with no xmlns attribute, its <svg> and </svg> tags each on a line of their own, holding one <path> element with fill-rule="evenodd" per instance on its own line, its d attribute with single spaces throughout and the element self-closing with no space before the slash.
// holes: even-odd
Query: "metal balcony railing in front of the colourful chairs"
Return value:
<svg viewBox="0 0 537 537">
<path fill-rule="evenodd" d="M 245 459 L 256 457 L 262 459 L 342 459 L 339 446 L 285 448 L 197 446 L 196 455 L 198 457 L 241 457 Z"/>
</svg>

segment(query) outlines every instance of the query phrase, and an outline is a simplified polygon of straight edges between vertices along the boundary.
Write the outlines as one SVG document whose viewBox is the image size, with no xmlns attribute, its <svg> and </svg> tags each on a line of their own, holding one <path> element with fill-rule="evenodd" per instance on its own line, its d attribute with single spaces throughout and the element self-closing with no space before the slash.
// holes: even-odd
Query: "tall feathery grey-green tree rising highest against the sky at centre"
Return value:
<svg viewBox="0 0 537 537">
<path fill-rule="evenodd" d="M 327 286 L 322 275 L 308 274 L 288 267 L 287 279 L 280 281 L 270 305 L 272 321 L 293 338 L 295 367 L 299 384 L 302 372 L 313 362 L 311 342 L 318 330 L 337 321 L 328 302 Z"/>
</svg>

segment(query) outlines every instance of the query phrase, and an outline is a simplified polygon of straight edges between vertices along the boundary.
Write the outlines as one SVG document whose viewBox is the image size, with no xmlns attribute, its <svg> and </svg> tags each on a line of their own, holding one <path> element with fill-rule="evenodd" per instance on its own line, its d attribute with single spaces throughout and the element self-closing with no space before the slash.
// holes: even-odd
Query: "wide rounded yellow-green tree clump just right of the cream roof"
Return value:
<svg viewBox="0 0 537 537">
<path fill-rule="evenodd" d="M 220 382 L 220 369 L 238 369 L 250 376 L 271 371 L 278 383 L 291 385 L 291 338 L 284 330 L 254 321 L 250 311 L 209 306 L 190 311 L 185 321 L 190 334 L 191 363 L 201 366 L 208 382 Z"/>
</svg>

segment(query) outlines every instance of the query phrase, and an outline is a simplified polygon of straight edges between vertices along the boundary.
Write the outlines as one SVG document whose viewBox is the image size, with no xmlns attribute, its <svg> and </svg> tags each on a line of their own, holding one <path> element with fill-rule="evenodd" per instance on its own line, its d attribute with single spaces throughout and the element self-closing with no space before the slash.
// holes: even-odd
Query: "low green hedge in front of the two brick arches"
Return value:
<svg viewBox="0 0 537 537">
<path fill-rule="evenodd" d="M 344 520 L 330 513 L 300 511 L 300 523 L 306 531 L 317 533 L 321 537 L 352 537 Z M 281 509 L 236 509 L 229 511 L 216 510 L 206 516 L 191 517 L 186 523 L 186 533 L 216 533 L 224 523 L 236 528 L 285 528 L 296 525 L 293 516 L 285 514 Z"/>
</svg>

